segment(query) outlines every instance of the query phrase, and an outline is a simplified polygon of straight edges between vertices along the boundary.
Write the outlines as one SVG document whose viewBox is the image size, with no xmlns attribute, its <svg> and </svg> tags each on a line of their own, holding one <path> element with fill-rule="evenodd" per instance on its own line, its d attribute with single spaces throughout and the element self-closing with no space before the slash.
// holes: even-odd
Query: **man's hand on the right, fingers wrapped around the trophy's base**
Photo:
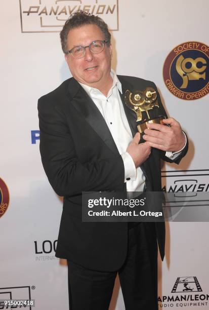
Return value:
<svg viewBox="0 0 209 310">
<path fill-rule="evenodd" d="M 181 150 L 186 141 L 180 124 L 173 118 L 164 119 L 162 122 L 169 124 L 170 127 L 160 124 L 149 124 L 149 129 L 144 131 L 143 139 L 148 142 L 149 146 L 163 151 Z"/>
</svg>

